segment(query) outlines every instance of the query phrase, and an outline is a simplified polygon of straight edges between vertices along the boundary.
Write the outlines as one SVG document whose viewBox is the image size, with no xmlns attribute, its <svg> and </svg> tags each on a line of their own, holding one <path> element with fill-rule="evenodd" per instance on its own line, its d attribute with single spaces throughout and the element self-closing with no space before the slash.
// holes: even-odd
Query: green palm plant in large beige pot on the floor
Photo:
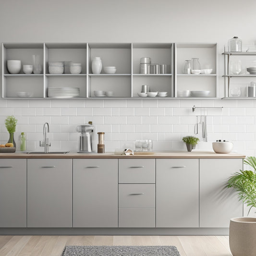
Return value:
<svg viewBox="0 0 256 256">
<path fill-rule="evenodd" d="M 239 170 L 234 172 L 226 183 L 226 188 L 232 188 L 238 193 L 238 198 L 249 208 L 248 214 L 256 207 L 256 158 L 247 157 L 244 164 L 253 171 Z M 229 229 L 230 250 L 233 256 L 255 256 L 256 252 L 256 218 L 240 217 L 230 220 Z"/>
</svg>

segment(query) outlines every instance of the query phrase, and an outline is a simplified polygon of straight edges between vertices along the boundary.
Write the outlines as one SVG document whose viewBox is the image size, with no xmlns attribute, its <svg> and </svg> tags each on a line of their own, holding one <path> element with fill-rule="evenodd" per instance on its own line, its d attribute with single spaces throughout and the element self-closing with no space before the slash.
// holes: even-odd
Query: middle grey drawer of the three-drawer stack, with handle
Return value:
<svg viewBox="0 0 256 256">
<path fill-rule="evenodd" d="M 155 208 L 155 184 L 119 184 L 119 208 Z"/>
</svg>

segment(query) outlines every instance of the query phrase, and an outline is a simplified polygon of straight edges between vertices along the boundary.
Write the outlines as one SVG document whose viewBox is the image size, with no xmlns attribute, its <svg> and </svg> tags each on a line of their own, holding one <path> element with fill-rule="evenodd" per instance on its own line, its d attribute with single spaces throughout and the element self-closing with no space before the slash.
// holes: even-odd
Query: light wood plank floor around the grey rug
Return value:
<svg viewBox="0 0 256 256">
<path fill-rule="evenodd" d="M 0 256 L 61 256 L 65 245 L 175 245 L 181 256 L 232 256 L 228 236 L 0 236 Z"/>
</svg>

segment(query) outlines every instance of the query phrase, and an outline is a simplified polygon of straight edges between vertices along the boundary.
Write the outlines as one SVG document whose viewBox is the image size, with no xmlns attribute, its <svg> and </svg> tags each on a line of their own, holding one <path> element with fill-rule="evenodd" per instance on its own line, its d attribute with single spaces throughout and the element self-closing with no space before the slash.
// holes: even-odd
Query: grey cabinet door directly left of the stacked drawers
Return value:
<svg viewBox="0 0 256 256">
<path fill-rule="evenodd" d="M 73 159 L 73 227 L 117 227 L 117 194 L 117 159 Z"/>
</svg>

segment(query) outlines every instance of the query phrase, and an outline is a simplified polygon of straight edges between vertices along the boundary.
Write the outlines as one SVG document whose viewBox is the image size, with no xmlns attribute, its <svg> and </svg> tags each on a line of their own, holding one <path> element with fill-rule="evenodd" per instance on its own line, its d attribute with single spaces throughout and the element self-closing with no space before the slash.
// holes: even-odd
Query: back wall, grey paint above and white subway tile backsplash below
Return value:
<svg viewBox="0 0 256 256">
<path fill-rule="evenodd" d="M 219 91 L 223 96 L 223 45 L 233 36 L 251 44 L 255 37 L 255 0 L 1 0 L 1 42 L 218 42 Z M 8 134 L 6 115 L 19 122 L 28 149 L 50 124 L 52 149 L 76 149 L 76 124 L 93 121 L 106 132 L 106 151 L 153 139 L 154 149 L 184 148 L 193 134 L 192 107 L 223 106 L 208 112 L 208 140 L 226 139 L 234 149 L 256 155 L 256 101 L 249 100 L 6 100 L 0 99 L 0 141 Z M 102 116 L 102 113 L 104 115 Z M 197 112 L 198 114 L 198 112 Z M 97 136 L 94 134 L 94 148 Z M 211 148 L 200 143 L 198 148 Z"/>
</svg>

